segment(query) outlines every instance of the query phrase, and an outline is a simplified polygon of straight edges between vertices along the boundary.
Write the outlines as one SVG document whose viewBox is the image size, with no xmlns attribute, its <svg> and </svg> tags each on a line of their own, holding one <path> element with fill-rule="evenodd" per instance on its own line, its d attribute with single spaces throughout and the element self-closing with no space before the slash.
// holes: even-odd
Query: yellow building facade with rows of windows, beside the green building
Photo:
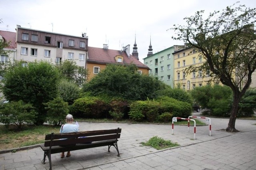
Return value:
<svg viewBox="0 0 256 170">
<path fill-rule="evenodd" d="M 186 73 L 186 69 L 190 66 L 202 65 L 206 60 L 202 54 L 196 52 L 192 47 L 180 49 L 172 53 L 174 55 L 174 86 L 180 87 L 184 90 L 191 90 L 195 87 L 202 87 L 210 83 L 211 77 L 203 74 L 202 71 Z M 205 76 L 203 76 L 205 75 Z M 218 84 L 219 82 L 215 82 Z"/>
</svg>

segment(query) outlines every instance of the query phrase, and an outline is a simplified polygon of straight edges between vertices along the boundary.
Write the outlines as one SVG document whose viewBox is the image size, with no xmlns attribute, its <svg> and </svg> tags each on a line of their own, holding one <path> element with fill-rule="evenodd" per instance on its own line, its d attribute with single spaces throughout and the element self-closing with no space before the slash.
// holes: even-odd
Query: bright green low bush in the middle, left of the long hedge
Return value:
<svg viewBox="0 0 256 170">
<path fill-rule="evenodd" d="M 134 101 L 130 104 L 129 116 L 135 121 L 142 121 L 145 117 L 149 122 L 153 122 L 158 117 L 159 103 L 156 101 Z"/>
</svg>

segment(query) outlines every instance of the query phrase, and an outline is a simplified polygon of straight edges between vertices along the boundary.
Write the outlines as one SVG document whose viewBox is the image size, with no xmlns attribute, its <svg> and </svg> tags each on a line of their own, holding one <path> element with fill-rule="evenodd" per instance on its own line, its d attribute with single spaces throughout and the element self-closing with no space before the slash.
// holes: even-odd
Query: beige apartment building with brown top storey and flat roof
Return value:
<svg viewBox="0 0 256 170">
<path fill-rule="evenodd" d="M 16 29 L 16 60 L 50 61 L 60 64 L 69 59 L 85 67 L 88 37 L 81 37 L 32 30 L 17 26 Z"/>
</svg>

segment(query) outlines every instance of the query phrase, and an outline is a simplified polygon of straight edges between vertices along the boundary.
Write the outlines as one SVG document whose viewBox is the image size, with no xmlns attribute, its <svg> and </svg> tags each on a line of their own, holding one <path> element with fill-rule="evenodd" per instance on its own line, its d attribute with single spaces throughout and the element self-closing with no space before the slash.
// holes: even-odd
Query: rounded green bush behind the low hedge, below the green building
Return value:
<svg viewBox="0 0 256 170">
<path fill-rule="evenodd" d="M 184 101 L 191 104 L 193 103 L 191 95 L 179 88 L 172 89 L 171 87 L 166 87 L 165 89 L 161 89 L 158 91 L 158 96 L 167 96 L 178 101 Z"/>
</svg>

